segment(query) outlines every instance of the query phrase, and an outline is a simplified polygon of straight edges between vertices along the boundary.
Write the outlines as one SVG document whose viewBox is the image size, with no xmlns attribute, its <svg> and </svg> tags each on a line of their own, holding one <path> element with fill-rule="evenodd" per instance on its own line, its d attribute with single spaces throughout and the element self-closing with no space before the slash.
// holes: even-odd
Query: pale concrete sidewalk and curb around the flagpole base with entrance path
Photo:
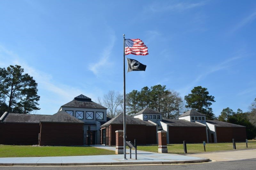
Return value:
<svg viewBox="0 0 256 170">
<path fill-rule="evenodd" d="M 104 145 L 92 145 L 97 148 L 115 151 L 115 147 Z M 129 149 L 126 150 L 129 153 Z M 132 159 L 130 154 L 126 154 L 127 160 L 123 160 L 124 155 L 93 155 L 93 156 L 58 156 L 58 157 L 23 157 L 23 158 L 0 158 L 0 165 L 34 165 L 34 166 L 74 166 L 74 165 L 134 165 L 134 164 L 177 164 L 177 163 L 199 163 L 207 162 L 208 158 L 198 158 L 196 156 L 185 156 L 170 153 L 156 153 L 137 151 L 135 160 L 134 150 Z"/>
</svg>

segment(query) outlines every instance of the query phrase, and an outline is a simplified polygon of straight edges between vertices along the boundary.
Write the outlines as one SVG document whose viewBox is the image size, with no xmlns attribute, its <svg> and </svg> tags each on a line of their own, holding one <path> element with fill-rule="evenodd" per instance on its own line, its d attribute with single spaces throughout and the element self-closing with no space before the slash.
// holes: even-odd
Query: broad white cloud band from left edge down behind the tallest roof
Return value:
<svg viewBox="0 0 256 170">
<path fill-rule="evenodd" d="M 82 93 L 90 96 L 92 99 L 97 98 L 95 96 L 97 94 L 91 93 L 90 91 L 63 84 L 63 82 L 54 81 L 54 77 L 51 74 L 29 66 L 22 60 L 22 56 L 0 45 L 0 67 L 8 67 L 9 65 L 20 65 L 24 68 L 24 73 L 33 76 L 38 83 L 38 94 L 41 96 L 39 101 L 41 110 L 37 111 L 39 114 L 56 113 L 62 104 L 69 102 L 75 96 Z"/>
</svg>

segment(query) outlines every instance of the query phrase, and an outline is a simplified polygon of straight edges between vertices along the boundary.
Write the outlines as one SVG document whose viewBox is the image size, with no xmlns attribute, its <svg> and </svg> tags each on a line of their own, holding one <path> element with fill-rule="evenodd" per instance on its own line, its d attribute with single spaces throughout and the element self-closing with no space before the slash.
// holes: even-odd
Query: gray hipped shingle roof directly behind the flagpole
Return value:
<svg viewBox="0 0 256 170">
<path fill-rule="evenodd" d="M 116 117 L 114 117 L 113 119 L 109 120 L 108 122 L 106 122 L 101 126 L 105 126 L 108 124 L 124 124 L 124 113 L 117 115 Z M 139 118 L 134 118 L 128 115 L 126 115 L 126 124 L 153 125 L 153 124 L 150 124 L 149 122 L 146 123 L 145 121 L 140 120 Z"/>
</svg>

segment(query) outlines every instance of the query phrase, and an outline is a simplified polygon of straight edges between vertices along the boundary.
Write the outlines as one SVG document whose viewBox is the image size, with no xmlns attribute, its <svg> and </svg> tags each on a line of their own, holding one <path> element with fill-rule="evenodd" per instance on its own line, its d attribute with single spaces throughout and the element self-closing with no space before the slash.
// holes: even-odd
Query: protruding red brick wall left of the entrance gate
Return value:
<svg viewBox="0 0 256 170">
<path fill-rule="evenodd" d="M 83 124 L 41 123 L 40 145 L 83 145 Z"/>
</svg>

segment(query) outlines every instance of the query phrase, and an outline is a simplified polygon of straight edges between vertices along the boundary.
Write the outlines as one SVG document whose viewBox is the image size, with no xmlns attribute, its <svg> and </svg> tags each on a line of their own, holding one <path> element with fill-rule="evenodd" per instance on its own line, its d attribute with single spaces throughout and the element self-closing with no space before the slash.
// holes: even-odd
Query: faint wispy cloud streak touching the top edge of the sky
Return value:
<svg viewBox="0 0 256 170">
<path fill-rule="evenodd" d="M 145 10 L 151 12 L 164 12 L 164 11 L 185 11 L 188 9 L 196 8 L 199 6 L 205 5 L 205 1 L 198 2 L 198 3 L 186 3 L 186 2 L 179 2 L 173 3 L 168 2 L 164 4 L 154 3 L 150 4 Z"/>
</svg>

